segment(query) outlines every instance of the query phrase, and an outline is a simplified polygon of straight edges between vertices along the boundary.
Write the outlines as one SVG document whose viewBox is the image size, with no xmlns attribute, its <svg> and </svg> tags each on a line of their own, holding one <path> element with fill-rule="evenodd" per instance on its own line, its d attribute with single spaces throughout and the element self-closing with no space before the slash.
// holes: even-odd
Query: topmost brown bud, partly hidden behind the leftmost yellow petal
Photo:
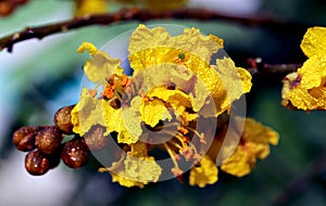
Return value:
<svg viewBox="0 0 326 206">
<path fill-rule="evenodd" d="M 54 114 L 54 124 L 57 127 L 66 134 L 73 133 L 73 124 L 71 112 L 75 105 L 64 106 L 59 108 Z"/>
</svg>

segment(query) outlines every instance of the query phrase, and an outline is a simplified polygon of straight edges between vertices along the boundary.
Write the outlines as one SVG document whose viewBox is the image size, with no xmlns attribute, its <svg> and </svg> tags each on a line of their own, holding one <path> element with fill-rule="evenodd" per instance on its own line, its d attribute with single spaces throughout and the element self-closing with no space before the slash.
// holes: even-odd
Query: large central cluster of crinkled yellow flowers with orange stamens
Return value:
<svg viewBox="0 0 326 206">
<path fill-rule="evenodd" d="M 202 188 L 217 181 L 216 155 L 202 152 L 206 133 L 196 125 L 199 118 L 227 114 L 233 102 L 251 88 L 251 75 L 236 67 L 231 59 L 224 56 L 211 65 L 212 55 L 223 47 L 222 39 L 203 36 L 196 28 L 172 37 L 163 27 L 139 25 L 129 38 L 133 76 L 123 74 L 120 60 L 91 43 L 77 49 L 91 54 L 84 70 L 96 86 L 83 88 L 72 111 L 73 130 L 84 136 L 100 125 L 105 128 L 104 136 L 115 136 L 116 143 L 124 145 L 120 159 L 100 171 L 109 171 L 113 181 L 124 186 L 156 182 L 162 168 L 149 154 L 158 149 L 170 155 L 171 173 L 179 180 L 186 171 L 180 159 L 185 159 L 193 166 L 190 185 Z M 211 103 L 215 110 L 206 108 Z M 265 158 L 268 144 L 277 144 L 277 140 L 276 132 L 247 119 L 240 144 L 222 170 L 238 177 L 249 173 L 255 158 Z M 213 140 L 213 153 L 218 153 L 221 144 Z"/>
</svg>

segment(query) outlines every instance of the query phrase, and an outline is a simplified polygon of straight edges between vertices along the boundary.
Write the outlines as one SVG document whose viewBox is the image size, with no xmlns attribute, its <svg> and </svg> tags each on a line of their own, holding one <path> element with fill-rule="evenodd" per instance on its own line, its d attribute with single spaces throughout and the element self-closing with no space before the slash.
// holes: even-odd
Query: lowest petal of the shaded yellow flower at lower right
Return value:
<svg viewBox="0 0 326 206">
<path fill-rule="evenodd" d="M 233 176 L 243 177 L 250 173 L 254 164 L 254 155 L 248 153 L 242 146 L 238 146 L 234 154 L 223 162 L 221 169 Z"/>
</svg>

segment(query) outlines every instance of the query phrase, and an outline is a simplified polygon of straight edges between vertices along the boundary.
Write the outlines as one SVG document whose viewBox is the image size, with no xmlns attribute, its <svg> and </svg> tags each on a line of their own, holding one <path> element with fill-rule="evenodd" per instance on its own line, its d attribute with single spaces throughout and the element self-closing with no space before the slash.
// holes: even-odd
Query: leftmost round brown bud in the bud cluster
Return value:
<svg viewBox="0 0 326 206">
<path fill-rule="evenodd" d="M 13 143 L 18 151 L 27 152 L 35 149 L 35 137 L 41 127 L 21 127 L 13 134 Z"/>
</svg>

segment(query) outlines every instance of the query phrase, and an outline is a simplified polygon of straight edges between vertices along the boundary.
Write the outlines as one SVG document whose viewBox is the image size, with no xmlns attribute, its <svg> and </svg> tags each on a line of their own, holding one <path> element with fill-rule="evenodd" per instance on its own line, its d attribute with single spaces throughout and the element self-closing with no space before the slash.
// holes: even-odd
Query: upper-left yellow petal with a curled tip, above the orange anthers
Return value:
<svg viewBox="0 0 326 206">
<path fill-rule="evenodd" d="M 92 59 L 84 65 L 85 75 L 90 81 L 105 83 L 106 77 L 113 74 L 122 74 L 123 68 L 120 67 L 120 59 L 110 57 L 106 52 L 97 50 L 96 47 L 89 42 L 83 42 L 77 49 L 78 52 L 84 52 L 85 50 L 88 50 L 92 55 Z"/>
</svg>

